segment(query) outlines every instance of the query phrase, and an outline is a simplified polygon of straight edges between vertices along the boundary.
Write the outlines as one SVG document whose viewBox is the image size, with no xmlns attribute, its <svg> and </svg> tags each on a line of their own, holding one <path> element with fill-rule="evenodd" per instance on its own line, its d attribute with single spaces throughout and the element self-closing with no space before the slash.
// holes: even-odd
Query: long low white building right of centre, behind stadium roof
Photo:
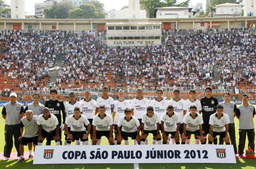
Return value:
<svg viewBox="0 0 256 169">
<path fill-rule="evenodd" d="M 158 7 L 155 8 L 154 18 L 193 18 L 197 11 L 193 11 L 192 7 Z"/>
</svg>

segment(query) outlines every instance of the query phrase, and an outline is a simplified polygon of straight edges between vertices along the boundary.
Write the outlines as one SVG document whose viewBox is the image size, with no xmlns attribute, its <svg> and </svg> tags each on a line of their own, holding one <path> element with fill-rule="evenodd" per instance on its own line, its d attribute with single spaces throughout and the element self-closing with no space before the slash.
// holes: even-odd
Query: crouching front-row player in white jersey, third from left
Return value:
<svg viewBox="0 0 256 169">
<path fill-rule="evenodd" d="M 104 105 L 99 106 L 98 115 L 94 116 L 92 120 L 93 125 L 93 138 L 92 144 L 96 145 L 98 140 L 102 136 L 105 136 L 109 140 L 110 145 L 114 145 L 113 139 L 113 120 L 109 114 L 105 113 L 106 109 Z"/>
</svg>

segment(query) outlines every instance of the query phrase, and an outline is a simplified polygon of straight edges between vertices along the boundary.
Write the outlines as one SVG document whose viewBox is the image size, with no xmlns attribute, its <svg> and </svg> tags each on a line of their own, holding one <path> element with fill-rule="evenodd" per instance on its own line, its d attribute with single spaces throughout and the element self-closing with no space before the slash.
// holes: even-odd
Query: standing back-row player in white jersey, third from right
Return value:
<svg viewBox="0 0 256 169">
<path fill-rule="evenodd" d="M 161 89 L 158 89 L 156 91 L 156 94 L 157 94 L 157 98 L 155 100 L 152 100 L 149 105 L 154 108 L 154 112 L 157 113 L 159 117 L 159 124 L 161 124 L 160 117 L 162 116 L 162 114 L 166 113 L 166 110 L 169 104 L 167 100 L 163 99 L 163 91 Z M 159 125 L 159 130 L 162 133 L 161 125 Z M 153 137 L 152 144 L 156 144 L 156 143 L 157 143 L 157 138 Z"/>
</svg>

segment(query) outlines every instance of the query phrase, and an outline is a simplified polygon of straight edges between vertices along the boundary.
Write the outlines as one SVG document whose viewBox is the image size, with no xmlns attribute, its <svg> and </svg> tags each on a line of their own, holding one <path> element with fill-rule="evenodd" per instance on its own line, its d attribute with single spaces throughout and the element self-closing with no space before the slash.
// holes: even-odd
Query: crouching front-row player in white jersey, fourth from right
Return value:
<svg viewBox="0 0 256 169">
<path fill-rule="evenodd" d="M 142 116 L 142 135 L 140 144 L 145 144 L 145 139 L 148 134 L 151 133 L 153 136 L 157 137 L 157 144 L 161 143 L 161 136 L 159 134 L 159 118 L 156 113 L 154 113 L 154 108 L 149 106 L 147 107 L 147 113 L 144 113 Z"/>
</svg>

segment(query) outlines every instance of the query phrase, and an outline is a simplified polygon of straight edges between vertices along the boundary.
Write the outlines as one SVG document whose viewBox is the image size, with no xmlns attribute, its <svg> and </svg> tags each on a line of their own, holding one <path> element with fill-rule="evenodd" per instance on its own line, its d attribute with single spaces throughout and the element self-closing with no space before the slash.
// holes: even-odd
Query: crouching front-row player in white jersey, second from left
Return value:
<svg viewBox="0 0 256 169">
<path fill-rule="evenodd" d="M 68 125 L 71 125 L 70 131 L 68 131 Z M 88 129 L 87 133 L 85 125 Z M 70 145 L 71 142 L 74 142 L 77 139 L 80 139 L 82 145 L 88 145 L 88 136 L 90 134 L 91 125 L 87 118 L 81 114 L 79 107 L 74 108 L 74 114 L 67 118 L 64 127 L 68 136 L 67 145 Z"/>
</svg>

